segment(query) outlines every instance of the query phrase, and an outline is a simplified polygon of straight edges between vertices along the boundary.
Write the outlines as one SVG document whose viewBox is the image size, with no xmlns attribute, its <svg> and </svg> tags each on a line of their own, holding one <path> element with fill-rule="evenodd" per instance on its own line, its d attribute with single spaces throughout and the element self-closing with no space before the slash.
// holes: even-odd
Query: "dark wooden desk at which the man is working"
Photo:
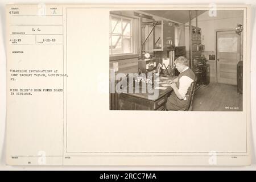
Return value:
<svg viewBox="0 0 256 182">
<path fill-rule="evenodd" d="M 174 77 L 172 77 L 173 79 Z M 168 78 L 168 80 L 170 80 Z M 159 77 L 160 81 L 167 81 Z M 162 86 L 159 84 L 159 86 Z M 118 94 L 117 110 L 166 110 L 167 97 L 172 91 L 171 86 L 165 90 L 159 90 L 157 97 L 149 99 L 149 93 L 121 93 Z"/>
</svg>

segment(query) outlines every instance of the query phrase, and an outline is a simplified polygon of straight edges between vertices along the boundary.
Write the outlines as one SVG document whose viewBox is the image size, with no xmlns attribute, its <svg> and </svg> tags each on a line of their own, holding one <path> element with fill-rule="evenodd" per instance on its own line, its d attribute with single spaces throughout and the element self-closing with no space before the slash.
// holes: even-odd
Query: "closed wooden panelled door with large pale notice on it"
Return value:
<svg viewBox="0 0 256 182">
<path fill-rule="evenodd" d="M 217 31 L 217 82 L 237 85 L 240 36 L 236 31 Z"/>
</svg>

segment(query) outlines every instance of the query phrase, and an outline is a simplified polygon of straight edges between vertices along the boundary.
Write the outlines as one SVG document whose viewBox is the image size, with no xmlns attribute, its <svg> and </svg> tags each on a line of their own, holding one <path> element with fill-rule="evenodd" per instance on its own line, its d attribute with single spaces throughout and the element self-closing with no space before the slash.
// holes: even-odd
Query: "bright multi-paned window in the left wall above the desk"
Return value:
<svg viewBox="0 0 256 182">
<path fill-rule="evenodd" d="M 135 49 L 134 19 L 110 15 L 109 55 L 132 55 Z"/>
</svg>

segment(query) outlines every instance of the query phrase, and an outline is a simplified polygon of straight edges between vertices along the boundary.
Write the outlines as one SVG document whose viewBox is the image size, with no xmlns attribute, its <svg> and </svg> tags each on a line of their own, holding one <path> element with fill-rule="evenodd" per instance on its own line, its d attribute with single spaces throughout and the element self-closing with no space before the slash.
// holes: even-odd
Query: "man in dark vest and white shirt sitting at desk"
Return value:
<svg viewBox="0 0 256 182">
<path fill-rule="evenodd" d="M 184 110 L 187 106 L 188 88 L 195 80 L 195 73 L 189 69 L 188 60 L 185 57 L 180 56 L 175 61 L 177 70 L 180 72 L 179 77 L 174 80 L 169 80 L 168 84 L 171 84 L 174 91 L 171 93 L 167 100 L 167 110 Z"/>
</svg>

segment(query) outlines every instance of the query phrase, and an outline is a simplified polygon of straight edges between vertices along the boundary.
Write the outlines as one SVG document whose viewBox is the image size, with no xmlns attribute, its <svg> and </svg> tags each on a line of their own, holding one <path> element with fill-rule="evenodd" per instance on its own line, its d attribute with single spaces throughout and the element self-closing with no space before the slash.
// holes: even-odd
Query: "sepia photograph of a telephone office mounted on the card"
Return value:
<svg viewBox="0 0 256 182">
<path fill-rule="evenodd" d="M 243 10 L 110 11 L 110 110 L 242 111 Z"/>
</svg>

